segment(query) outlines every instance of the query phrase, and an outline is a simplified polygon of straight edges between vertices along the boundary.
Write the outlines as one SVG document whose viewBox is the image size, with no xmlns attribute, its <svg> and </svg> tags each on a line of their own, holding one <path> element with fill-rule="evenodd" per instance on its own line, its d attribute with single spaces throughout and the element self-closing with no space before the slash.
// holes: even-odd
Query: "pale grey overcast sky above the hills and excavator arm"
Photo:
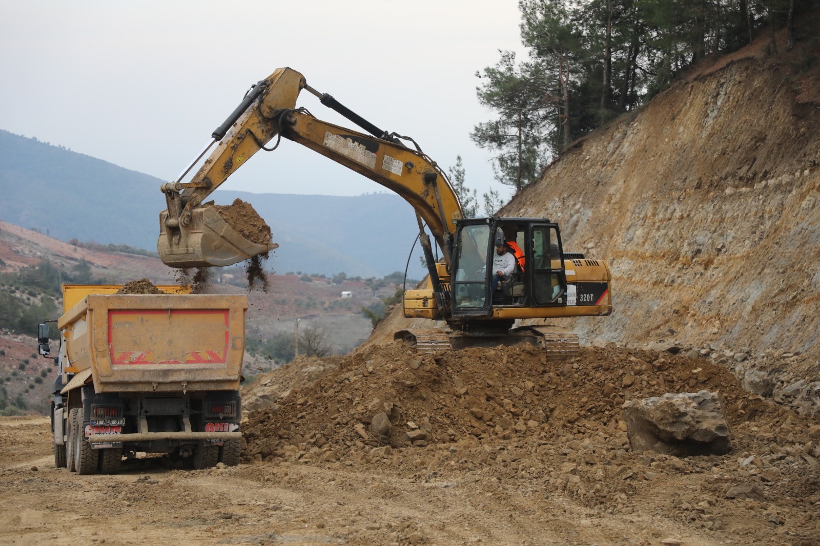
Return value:
<svg viewBox="0 0 820 546">
<path fill-rule="evenodd" d="M 173 180 L 248 87 L 290 66 L 440 166 L 461 154 L 479 196 L 490 154 L 469 138 L 492 118 L 476 71 L 522 55 L 517 0 L 0 0 L 0 129 Z M 350 122 L 303 92 L 298 106 Z M 116 181 L 112 181 L 116 183 Z M 359 195 L 380 185 L 282 141 L 221 189 Z M 158 189 L 157 189 L 158 192 Z"/>
</svg>

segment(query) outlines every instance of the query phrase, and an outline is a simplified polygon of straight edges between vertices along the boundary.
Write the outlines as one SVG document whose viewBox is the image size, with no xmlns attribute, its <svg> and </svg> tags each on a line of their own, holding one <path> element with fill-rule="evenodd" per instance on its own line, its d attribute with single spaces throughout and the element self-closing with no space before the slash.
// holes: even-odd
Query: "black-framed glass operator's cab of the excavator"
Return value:
<svg viewBox="0 0 820 546">
<path fill-rule="evenodd" d="M 493 290 L 493 255 L 499 242 L 516 268 Z M 521 255 L 522 254 L 522 255 Z M 566 304 L 567 276 L 558 225 L 544 218 L 458 221 L 453 251 L 453 316 L 490 316 L 503 307 Z"/>
</svg>

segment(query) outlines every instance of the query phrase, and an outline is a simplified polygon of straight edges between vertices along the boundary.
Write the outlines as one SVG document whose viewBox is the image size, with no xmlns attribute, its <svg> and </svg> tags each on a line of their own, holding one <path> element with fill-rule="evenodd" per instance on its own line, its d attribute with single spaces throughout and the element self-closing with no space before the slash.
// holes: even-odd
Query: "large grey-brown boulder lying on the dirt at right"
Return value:
<svg viewBox="0 0 820 546">
<path fill-rule="evenodd" d="M 664 394 L 623 405 L 626 435 L 635 451 L 676 456 L 722 455 L 731 449 L 726 409 L 720 394 Z"/>
</svg>

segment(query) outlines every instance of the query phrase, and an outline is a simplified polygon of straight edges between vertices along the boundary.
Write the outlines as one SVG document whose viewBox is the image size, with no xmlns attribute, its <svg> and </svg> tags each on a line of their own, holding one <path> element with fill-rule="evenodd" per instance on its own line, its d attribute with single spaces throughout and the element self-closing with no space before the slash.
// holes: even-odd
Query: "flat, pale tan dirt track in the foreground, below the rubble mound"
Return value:
<svg viewBox="0 0 820 546">
<path fill-rule="evenodd" d="M 45 418 L 4 417 L 0 439 L 4 544 L 658 544 L 689 535 L 653 516 L 603 517 L 537 488 L 429 464 L 397 474 L 378 463 L 180 471 L 146 462 L 82 476 L 53 467 Z"/>
</svg>

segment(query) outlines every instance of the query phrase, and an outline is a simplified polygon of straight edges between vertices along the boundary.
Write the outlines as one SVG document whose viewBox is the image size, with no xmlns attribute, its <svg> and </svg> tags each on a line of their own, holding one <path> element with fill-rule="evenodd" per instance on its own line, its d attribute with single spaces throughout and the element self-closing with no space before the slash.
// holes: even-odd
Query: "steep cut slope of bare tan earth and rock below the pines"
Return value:
<svg viewBox="0 0 820 546">
<path fill-rule="evenodd" d="M 608 262 L 612 316 L 563 321 L 582 343 L 775 371 L 816 407 L 820 48 L 766 52 L 761 40 L 695 66 L 574 143 L 501 216 L 550 218 L 565 251 Z M 411 324 L 397 310 L 372 339 Z"/>
</svg>

